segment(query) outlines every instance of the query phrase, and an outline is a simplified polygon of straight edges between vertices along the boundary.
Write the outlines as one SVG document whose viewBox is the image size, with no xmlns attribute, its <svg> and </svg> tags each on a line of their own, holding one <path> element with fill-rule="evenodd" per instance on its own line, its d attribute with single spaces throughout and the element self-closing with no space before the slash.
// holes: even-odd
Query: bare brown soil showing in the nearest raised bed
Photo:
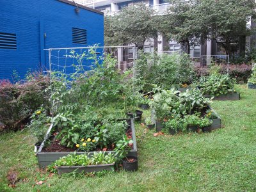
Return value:
<svg viewBox="0 0 256 192">
<path fill-rule="evenodd" d="M 132 138 L 132 129 L 126 131 L 127 138 Z M 133 145 L 130 145 L 132 148 Z M 96 148 L 95 151 L 112 151 L 115 148 L 115 145 L 110 145 L 107 148 Z M 60 140 L 51 141 L 51 144 L 42 149 L 42 152 L 75 152 L 77 148 L 69 148 L 63 145 L 60 145 Z"/>
</svg>

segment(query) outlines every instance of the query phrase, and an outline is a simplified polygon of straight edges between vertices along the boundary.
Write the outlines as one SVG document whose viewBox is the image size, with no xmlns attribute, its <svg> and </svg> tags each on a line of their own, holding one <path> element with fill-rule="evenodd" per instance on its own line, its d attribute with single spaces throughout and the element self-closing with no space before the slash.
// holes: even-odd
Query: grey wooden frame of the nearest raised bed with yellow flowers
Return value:
<svg viewBox="0 0 256 192">
<path fill-rule="evenodd" d="M 51 125 L 52 127 L 52 125 Z M 49 138 L 49 132 L 51 131 L 51 127 L 49 128 L 49 131 L 47 131 L 47 134 L 45 138 Z M 135 128 L 134 128 L 134 120 L 131 119 L 131 129 L 132 129 L 132 140 L 133 140 L 133 148 L 132 150 L 129 150 L 127 156 L 135 156 L 137 157 L 137 145 L 136 145 L 136 135 L 135 135 Z M 41 144 L 38 152 L 36 153 L 38 164 L 40 168 L 45 168 L 52 162 L 60 159 L 60 157 L 67 156 L 68 154 L 71 154 L 72 152 L 42 152 L 42 149 L 44 148 L 44 142 Z M 77 155 L 80 154 L 86 154 L 87 156 L 92 156 L 94 151 L 92 152 L 76 152 Z M 99 152 L 96 152 L 99 153 Z M 115 151 L 106 151 L 106 154 L 115 154 Z"/>
</svg>

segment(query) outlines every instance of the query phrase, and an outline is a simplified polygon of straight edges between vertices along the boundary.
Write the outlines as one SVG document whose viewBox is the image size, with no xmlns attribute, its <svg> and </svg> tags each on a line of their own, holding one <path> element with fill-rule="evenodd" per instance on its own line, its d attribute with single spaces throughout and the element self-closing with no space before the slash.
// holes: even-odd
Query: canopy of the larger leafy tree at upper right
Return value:
<svg viewBox="0 0 256 192">
<path fill-rule="evenodd" d="M 246 22 L 255 14 L 254 0 L 169 0 L 168 14 L 158 17 L 159 31 L 180 42 L 189 53 L 189 45 L 207 39 L 218 40 L 227 54 L 232 43 L 240 44 L 252 29 Z M 184 46 L 185 45 L 185 46 Z"/>
</svg>

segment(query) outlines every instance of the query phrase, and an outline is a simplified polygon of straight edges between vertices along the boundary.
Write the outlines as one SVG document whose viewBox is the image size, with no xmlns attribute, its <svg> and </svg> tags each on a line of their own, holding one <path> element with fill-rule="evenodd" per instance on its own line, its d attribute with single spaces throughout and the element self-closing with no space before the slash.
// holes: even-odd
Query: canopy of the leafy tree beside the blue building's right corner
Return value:
<svg viewBox="0 0 256 192">
<path fill-rule="evenodd" d="M 120 45 L 134 43 L 142 49 L 144 42 L 156 38 L 154 10 L 143 3 L 127 6 L 115 15 L 105 17 L 105 44 Z"/>
</svg>

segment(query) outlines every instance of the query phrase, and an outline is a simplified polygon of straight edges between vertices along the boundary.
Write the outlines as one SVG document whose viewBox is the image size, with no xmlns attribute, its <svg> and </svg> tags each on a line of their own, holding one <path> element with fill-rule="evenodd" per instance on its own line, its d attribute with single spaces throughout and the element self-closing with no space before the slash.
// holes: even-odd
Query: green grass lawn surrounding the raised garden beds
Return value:
<svg viewBox="0 0 256 192">
<path fill-rule="evenodd" d="M 38 169 L 28 132 L 1 134 L 0 191 L 256 191 L 256 90 L 237 90 L 241 100 L 212 104 L 223 129 L 154 137 L 137 124 L 140 170 L 134 173 L 49 175 Z M 14 189 L 8 172 L 18 173 Z"/>
</svg>

